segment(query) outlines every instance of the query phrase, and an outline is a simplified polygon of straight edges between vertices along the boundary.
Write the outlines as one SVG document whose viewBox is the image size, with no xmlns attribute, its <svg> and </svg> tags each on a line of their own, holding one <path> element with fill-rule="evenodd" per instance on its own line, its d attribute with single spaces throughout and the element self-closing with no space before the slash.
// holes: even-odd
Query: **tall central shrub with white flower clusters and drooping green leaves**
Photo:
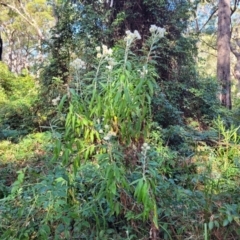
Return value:
<svg viewBox="0 0 240 240">
<path fill-rule="evenodd" d="M 138 218 L 151 222 L 152 231 L 158 229 L 157 207 L 155 180 L 148 174 L 151 149 L 146 140 L 151 127 L 148 119 L 152 117 L 151 98 L 157 74 L 150 57 L 164 32 L 162 28 L 151 26 L 149 46 L 144 47 L 149 50 L 142 51 L 144 55 L 136 57 L 131 52 L 141 36 L 138 31 L 128 30 L 125 49 L 96 47 L 95 71 L 85 72 L 87 64 L 80 59 L 71 64 L 75 78 L 81 77 L 81 84 L 85 85 L 81 91 L 70 89 L 66 133 L 63 143 L 59 142 L 55 149 L 64 164 L 73 162 L 75 173 L 83 160 L 97 161 L 104 175 L 98 197 L 107 200 L 111 214 L 118 215 L 124 208 L 137 204 L 135 214 L 126 217 L 131 219 L 137 214 Z M 139 178 L 133 177 L 135 175 Z M 132 196 L 128 204 L 123 200 L 124 192 Z"/>
</svg>

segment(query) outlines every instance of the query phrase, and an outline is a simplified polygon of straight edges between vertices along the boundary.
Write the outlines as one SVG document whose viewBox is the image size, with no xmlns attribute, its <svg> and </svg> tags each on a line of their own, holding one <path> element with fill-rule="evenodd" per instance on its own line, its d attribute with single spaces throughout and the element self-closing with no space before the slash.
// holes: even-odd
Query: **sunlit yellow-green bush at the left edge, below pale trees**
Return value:
<svg viewBox="0 0 240 240">
<path fill-rule="evenodd" d="M 28 74 L 15 76 L 0 63 L 0 139 L 17 141 L 34 128 L 38 86 Z"/>
</svg>

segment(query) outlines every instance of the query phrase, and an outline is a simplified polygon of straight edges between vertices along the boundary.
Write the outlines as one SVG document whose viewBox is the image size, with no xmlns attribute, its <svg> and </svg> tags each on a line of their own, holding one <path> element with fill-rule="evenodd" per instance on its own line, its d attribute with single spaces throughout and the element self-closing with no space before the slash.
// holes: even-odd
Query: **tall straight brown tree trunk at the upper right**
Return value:
<svg viewBox="0 0 240 240">
<path fill-rule="evenodd" d="M 231 109 L 230 77 L 230 38 L 231 38 L 230 0 L 219 0 L 218 3 L 218 37 L 217 37 L 217 78 L 221 84 L 220 101 Z"/>
</svg>

